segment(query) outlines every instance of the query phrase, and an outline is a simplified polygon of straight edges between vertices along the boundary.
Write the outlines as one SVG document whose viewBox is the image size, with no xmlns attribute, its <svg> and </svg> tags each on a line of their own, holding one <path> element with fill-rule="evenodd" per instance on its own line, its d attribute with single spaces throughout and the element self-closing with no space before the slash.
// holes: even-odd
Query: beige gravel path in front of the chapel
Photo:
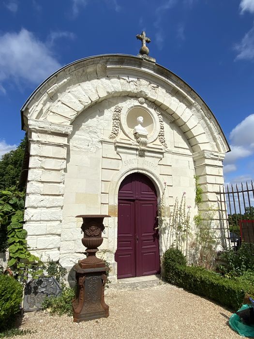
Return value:
<svg viewBox="0 0 254 339">
<path fill-rule="evenodd" d="M 20 328 L 37 331 L 15 339 L 240 338 L 227 324 L 230 311 L 169 284 L 112 286 L 105 301 L 107 319 L 79 324 L 72 317 L 51 316 L 46 311 L 25 313 Z"/>
</svg>

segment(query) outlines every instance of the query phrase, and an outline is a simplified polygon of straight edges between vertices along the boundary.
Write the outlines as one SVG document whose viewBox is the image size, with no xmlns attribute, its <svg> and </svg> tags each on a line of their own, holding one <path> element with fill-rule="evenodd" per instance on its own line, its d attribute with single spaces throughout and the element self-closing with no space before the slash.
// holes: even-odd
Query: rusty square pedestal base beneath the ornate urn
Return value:
<svg viewBox="0 0 254 339">
<path fill-rule="evenodd" d="M 84 265 L 82 265 L 84 267 Z M 76 265 L 77 291 L 73 300 L 73 321 L 79 323 L 109 316 L 104 301 L 108 267 L 81 268 Z"/>
</svg>

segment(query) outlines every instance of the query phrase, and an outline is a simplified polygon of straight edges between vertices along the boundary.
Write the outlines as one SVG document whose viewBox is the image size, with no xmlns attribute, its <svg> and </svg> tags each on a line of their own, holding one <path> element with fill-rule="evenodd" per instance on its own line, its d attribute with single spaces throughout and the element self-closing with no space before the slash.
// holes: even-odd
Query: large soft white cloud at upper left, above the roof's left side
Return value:
<svg viewBox="0 0 254 339">
<path fill-rule="evenodd" d="M 49 46 L 30 31 L 0 35 L 1 87 L 4 81 L 13 79 L 39 84 L 60 67 Z"/>
</svg>

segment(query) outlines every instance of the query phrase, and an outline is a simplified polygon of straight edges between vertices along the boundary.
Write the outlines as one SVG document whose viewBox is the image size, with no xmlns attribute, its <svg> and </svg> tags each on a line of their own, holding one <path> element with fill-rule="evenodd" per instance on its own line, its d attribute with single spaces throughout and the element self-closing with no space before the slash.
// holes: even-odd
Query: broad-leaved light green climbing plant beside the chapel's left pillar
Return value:
<svg viewBox="0 0 254 339">
<path fill-rule="evenodd" d="M 27 231 L 23 229 L 24 197 L 25 193 L 15 186 L 0 191 L 1 246 L 9 247 L 8 265 L 20 281 L 27 280 L 28 275 L 37 278 L 43 272 L 38 269 L 40 259 L 27 247 Z"/>
</svg>

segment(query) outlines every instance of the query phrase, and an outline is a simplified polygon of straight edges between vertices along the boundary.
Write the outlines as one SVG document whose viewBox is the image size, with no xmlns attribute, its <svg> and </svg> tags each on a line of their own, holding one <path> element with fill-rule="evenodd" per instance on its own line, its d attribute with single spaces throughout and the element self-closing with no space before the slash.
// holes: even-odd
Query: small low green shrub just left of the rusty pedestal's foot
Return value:
<svg viewBox="0 0 254 339">
<path fill-rule="evenodd" d="M 42 304 L 43 309 L 51 314 L 72 315 L 72 300 L 75 298 L 75 291 L 70 287 L 65 287 L 58 297 L 45 297 Z"/>
</svg>

